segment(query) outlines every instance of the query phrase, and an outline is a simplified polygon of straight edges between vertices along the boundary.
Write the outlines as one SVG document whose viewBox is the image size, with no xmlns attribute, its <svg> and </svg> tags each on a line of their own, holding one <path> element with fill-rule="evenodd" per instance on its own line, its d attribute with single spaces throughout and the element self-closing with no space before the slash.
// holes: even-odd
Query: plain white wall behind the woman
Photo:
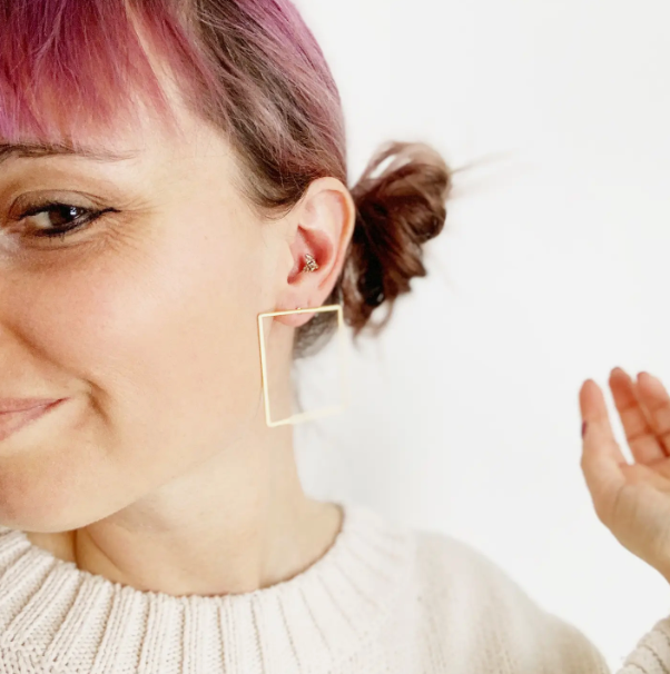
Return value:
<svg viewBox="0 0 670 674">
<path fill-rule="evenodd" d="M 308 492 L 476 546 L 612 670 L 670 588 L 593 512 L 578 390 L 670 384 L 670 7 L 663 0 L 297 0 L 344 99 L 352 185 L 378 143 L 459 175 L 354 397 L 296 429 Z M 334 350 L 300 366 L 308 409 Z"/>
</svg>

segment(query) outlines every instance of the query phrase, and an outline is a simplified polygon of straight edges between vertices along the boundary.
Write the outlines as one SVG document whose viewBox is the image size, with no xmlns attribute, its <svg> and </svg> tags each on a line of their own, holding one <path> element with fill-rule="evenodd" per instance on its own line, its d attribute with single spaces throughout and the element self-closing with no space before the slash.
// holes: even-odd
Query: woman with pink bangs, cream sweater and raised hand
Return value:
<svg viewBox="0 0 670 674">
<path fill-rule="evenodd" d="M 608 671 L 463 542 L 302 489 L 292 361 L 425 274 L 451 172 L 391 143 L 347 189 L 288 0 L 4 0 L 0 101 L 0 672 Z M 582 468 L 670 581 L 670 399 L 610 384 L 637 464 L 588 380 Z M 660 617 L 620 672 L 668 672 Z"/>
</svg>

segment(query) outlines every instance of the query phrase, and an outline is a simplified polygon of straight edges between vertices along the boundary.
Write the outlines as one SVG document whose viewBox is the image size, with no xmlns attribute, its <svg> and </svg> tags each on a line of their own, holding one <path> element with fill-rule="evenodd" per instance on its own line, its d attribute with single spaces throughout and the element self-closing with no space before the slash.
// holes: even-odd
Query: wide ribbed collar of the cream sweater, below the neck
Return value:
<svg viewBox="0 0 670 674">
<path fill-rule="evenodd" d="M 306 571 L 209 597 L 111 582 L 0 526 L 0 653 L 51 674 L 326 673 L 381 626 L 414 545 L 406 526 L 338 503 L 342 528 Z"/>
</svg>

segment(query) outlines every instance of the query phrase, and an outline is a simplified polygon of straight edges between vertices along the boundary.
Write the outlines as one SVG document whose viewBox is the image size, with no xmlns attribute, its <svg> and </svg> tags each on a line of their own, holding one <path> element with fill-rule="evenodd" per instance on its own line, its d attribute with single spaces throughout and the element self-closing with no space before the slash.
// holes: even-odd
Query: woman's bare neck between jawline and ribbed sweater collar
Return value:
<svg viewBox="0 0 670 674">
<path fill-rule="evenodd" d="M 304 494 L 293 426 L 262 433 L 273 442 L 229 445 L 107 517 L 29 538 L 80 569 L 174 596 L 289 579 L 329 548 L 342 513 Z"/>
</svg>

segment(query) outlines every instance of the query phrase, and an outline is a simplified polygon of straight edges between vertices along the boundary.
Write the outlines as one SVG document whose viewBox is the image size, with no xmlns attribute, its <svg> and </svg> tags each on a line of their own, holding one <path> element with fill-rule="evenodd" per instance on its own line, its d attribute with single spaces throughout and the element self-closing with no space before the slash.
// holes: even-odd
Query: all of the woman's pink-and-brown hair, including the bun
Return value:
<svg viewBox="0 0 670 674">
<path fill-rule="evenodd" d="M 324 176 L 347 184 L 337 87 L 288 0 L 2 0 L 0 137 L 77 147 L 137 122 L 138 102 L 174 125 L 139 36 L 183 95 L 220 129 L 244 168 L 258 212 L 292 208 Z M 390 165 L 377 172 L 386 159 Z M 451 171 L 423 142 L 386 143 L 352 188 L 356 228 L 326 304 L 342 301 L 354 334 L 373 310 L 425 276 L 422 246 L 442 230 Z M 317 314 L 297 330 L 296 355 L 335 327 Z"/>
</svg>

